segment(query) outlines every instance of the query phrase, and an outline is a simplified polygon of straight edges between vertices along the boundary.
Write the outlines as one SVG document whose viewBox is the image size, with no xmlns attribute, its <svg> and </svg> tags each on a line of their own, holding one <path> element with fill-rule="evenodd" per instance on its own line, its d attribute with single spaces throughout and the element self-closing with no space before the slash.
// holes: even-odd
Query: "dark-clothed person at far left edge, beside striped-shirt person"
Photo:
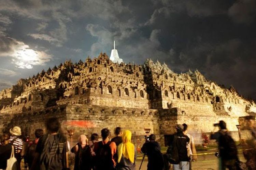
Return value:
<svg viewBox="0 0 256 170">
<path fill-rule="evenodd" d="M 11 157 L 13 146 L 9 140 L 10 136 L 3 134 L 0 145 L 0 169 L 6 169 L 7 159 Z"/>
</svg>

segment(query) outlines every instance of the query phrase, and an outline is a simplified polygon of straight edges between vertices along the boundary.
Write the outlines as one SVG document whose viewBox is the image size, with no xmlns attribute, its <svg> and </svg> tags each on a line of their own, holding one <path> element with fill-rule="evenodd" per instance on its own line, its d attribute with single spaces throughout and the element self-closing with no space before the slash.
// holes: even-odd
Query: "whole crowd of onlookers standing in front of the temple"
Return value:
<svg viewBox="0 0 256 170">
<path fill-rule="evenodd" d="M 28 169 L 31 170 L 68 170 L 69 168 L 69 142 L 60 130 L 57 118 L 49 118 L 46 123 L 47 132 L 42 129 L 35 130 L 35 140 L 24 142 L 19 136 L 22 134 L 18 126 L 10 129 L 9 134 L 3 134 L 0 145 L 0 169 L 10 166 L 20 169 L 20 162 L 24 157 Z M 216 139 L 219 153 L 219 169 L 256 169 L 255 152 L 244 151 L 247 159 L 242 164 L 238 159 L 237 148 L 229 134 L 226 123 L 219 121 L 216 125 L 219 130 L 212 133 L 210 138 Z M 141 152 L 148 157 L 148 170 L 190 170 L 191 162 L 197 160 L 197 153 L 192 135 L 187 133 L 187 124 L 177 124 L 176 133 L 168 137 L 168 149 L 162 154 L 156 136 L 145 136 L 146 142 Z M 255 124 L 252 124 L 252 134 L 256 138 Z M 101 139 L 94 133 L 90 139 L 81 134 L 78 142 L 71 148 L 75 154 L 74 170 L 135 170 L 137 149 L 131 142 L 132 133 L 129 130 L 115 128 L 115 137 L 110 140 L 110 130 L 101 130 Z M 255 141 L 255 140 L 254 140 Z M 27 144 L 26 144 L 27 143 Z M 256 150 L 255 143 L 250 147 Z M 12 152 L 16 158 L 15 163 L 10 160 Z M 12 168 L 11 167 L 11 168 Z M 27 167 L 25 167 L 27 168 Z"/>
</svg>

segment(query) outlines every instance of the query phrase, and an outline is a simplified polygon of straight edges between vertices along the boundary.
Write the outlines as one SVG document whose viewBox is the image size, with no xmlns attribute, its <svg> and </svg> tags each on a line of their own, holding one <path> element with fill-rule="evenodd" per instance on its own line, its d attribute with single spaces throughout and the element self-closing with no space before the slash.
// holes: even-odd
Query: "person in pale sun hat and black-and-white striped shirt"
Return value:
<svg viewBox="0 0 256 170">
<path fill-rule="evenodd" d="M 23 149 L 23 141 L 19 138 L 19 136 L 22 134 L 21 129 L 19 126 L 14 126 L 12 129 L 10 129 L 11 137 L 10 137 L 10 143 L 14 146 L 14 156 L 17 159 L 18 163 L 18 169 L 20 169 L 20 162 L 22 160 L 21 151 Z"/>
</svg>

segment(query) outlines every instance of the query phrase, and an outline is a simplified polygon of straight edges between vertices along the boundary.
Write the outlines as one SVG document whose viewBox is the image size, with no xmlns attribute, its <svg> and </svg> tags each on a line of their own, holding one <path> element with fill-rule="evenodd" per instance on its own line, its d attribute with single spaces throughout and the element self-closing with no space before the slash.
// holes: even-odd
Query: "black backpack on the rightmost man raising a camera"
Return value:
<svg viewBox="0 0 256 170">
<path fill-rule="evenodd" d="M 220 132 L 219 156 L 222 159 L 237 159 L 237 146 L 228 132 Z"/>
</svg>

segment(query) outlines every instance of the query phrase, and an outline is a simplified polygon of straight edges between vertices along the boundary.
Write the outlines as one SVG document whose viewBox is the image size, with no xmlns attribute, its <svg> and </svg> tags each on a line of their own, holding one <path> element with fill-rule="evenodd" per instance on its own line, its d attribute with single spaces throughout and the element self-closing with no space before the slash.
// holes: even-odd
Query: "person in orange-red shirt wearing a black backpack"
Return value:
<svg viewBox="0 0 256 170">
<path fill-rule="evenodd" d="M 102 141 L 95 143 L 94 152 L 95 152 L 95 167 L 96 170 L 108 169 L 112 170 L 112 154 L 109 141 L 110 131 L 106 128 L 101 130 Z"/>
</svg>

